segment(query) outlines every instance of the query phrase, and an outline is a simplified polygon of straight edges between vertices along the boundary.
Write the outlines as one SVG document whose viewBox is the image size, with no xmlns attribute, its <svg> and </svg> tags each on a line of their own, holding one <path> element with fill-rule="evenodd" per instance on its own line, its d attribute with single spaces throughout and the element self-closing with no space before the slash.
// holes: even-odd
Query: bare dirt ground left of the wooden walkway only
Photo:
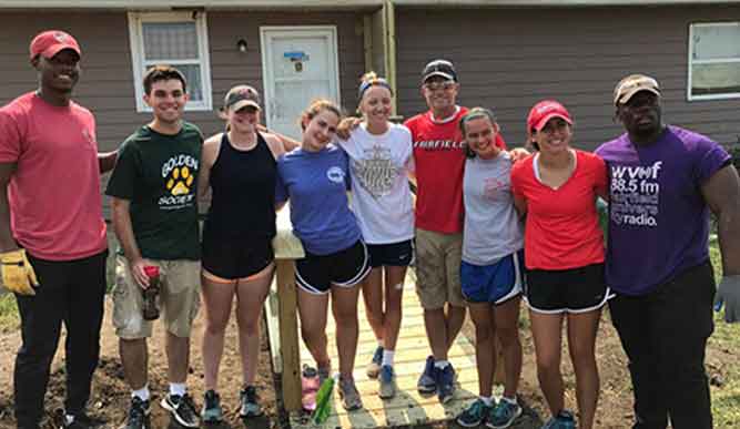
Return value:
<svg viewBox="0 0 740 429">
<path fill-rule="evenodd" d="M 93 379 L 93 394 L 89 405 L 89 413 L 108 422 L 107 428 L 119 428 L 125 420 L 125 413 L 131 400 L 130 389 L 123 379 L 123 369 L 118 353 L 118 338 L 115 337 L 110 316 L 112 305 L 107 299 L 105 320 L 101 334 L 101 360 Z M 191 345 L 191 370 L 187 379 L 189 390 L 196 406 L 203 404 L 203 362 L 200 348 L 203 331 L 203 311 L 200 311 L 193 327 L 193 339 Z M 273 386 L 272 368 L 270 362 L 270 348 L 263 328 L 263 346 L 257 368 L 257 392 L 265 409 L 264 418 L 256 418 L 249 422 L 249 428 L 273 428 L 277 423 L 277 407 L 275 405 L 275 390 Z M 18 333 L 0 334 L 0 428 L 14 429 L 12 418 L 12 368 L 14 355 L 20 344 Z M 236 336 L 236 323 L 232 317 L 226 330 L 224 356 L 221 361 L 219 379 L 221 402 L 230 426 L 225 428 L 243 428 L 239 418 L 239 389 L 242 382 L 242 370 L 239 358 L 239 341 Z M 152 429 L 179 428 L 178 425 L 170 426 L 170 418 L 162 409 L 159 401 L 168 389 L 166 361 L 164 356 L 164 338 L 162 330 L 156 329 L 154 337 L 149 341 L 149 388 L 153 395 L 152 400 Z M 62 407 L 64 398 L 64 368 L 63 368 L 63 340 L 52 367 L 52 375 L 47 391 L 47 421 L 43 429 L 54 428 L 51 425 L 51 416 L 54 410 Z M 55 429 L 55 428 L 54 428 Z"/>
</svg>

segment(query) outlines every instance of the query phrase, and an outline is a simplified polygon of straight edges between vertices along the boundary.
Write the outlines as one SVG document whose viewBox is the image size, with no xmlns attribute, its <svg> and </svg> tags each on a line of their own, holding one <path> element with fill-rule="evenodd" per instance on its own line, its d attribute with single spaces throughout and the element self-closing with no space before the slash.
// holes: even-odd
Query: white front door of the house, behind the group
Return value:
<svg viewBox="0 0 740 429">
<path fill-rule="evenodd" d="M 300 140 L 311 101 L 339 101 L 336 28 L 261 27 L 260 39 L 267 127 Z"/>
</svg>

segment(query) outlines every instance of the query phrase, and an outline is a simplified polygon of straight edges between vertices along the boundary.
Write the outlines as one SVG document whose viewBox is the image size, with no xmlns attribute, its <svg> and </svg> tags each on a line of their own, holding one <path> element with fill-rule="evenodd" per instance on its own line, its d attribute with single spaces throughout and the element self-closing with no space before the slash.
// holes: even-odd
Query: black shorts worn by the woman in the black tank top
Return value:
<svg viewBox="0 0 740 429">
<path fill-rule="evenodd" d="M 260 273 L 275 259 L 272 238 L 210 239 L 203 238 L 203 269 L 229 280 Z"/>
</svg>

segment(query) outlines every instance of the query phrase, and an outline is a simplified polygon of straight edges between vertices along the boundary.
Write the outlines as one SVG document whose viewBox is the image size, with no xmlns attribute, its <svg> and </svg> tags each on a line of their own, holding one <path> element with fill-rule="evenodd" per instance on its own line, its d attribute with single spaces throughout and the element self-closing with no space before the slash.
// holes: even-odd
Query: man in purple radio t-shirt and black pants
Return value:
<svg viewBox="0 0 740 429">
<path fill-rule="evenodd" d="M 658 82 L 632 74 L 615 89 L 627 131 L 596 152 L 610 177 L 606 280 L 629 359 L 633 429 L 712 427 L 704 374 L 713 330 L 709 211 L 719 219 L 726 320 L 740 318 L 740 191 L 729 154 L 708 137 L 665 125 Z M 734 222 L 731 222 L 736 219 Z"/>
</svg>

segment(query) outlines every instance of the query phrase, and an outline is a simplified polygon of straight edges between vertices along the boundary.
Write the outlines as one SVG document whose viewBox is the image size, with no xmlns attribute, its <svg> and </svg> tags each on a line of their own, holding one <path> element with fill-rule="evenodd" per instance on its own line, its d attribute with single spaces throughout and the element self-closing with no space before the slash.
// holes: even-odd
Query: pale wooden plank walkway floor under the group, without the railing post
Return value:
<svg viewBox="0 0 740 429">
<path fill-rule="evenodd" d="M 422 396 L 416 390 L 416 381 L 429 355 L 429 346 L 424 331 L 422 306 L 414 290 L 414 275 L 409 270 L 406 279 L 403 300 L 403 323 L 398 345 L 396 347 L 395 370 L 398 391 L 391 400 L 381 400 L 377 396 L 378 381 L 369 379 L 365 374 L 365 366 L 369 361 L 377 343 L 365 317 L 365 306 L 359 297 L 359 344 L 355 361 L 355 382 L 363 397 L 364 408 L 347 412 L 342 408 L 339 395 L 334 390 L 332 415 L 324 427 L 326 428 L 377 428 L 408 425 L 423 425 L 444 421 L 456 417 L 474 398 L 478 391 L 478 380 L 475 369 L 475 350 L 470 341 L 459 335 L 449 353 L 449 360 L 455 367 L 457 389 L 454 399 L 442 405 L 436 395 Z M 336 370 L 338 357 L 334 340 L 334 320 L 328 316 L 327 337 L 328 354 Z M 301 341 L 301 361 L 315 366 L 311 354 Z M 302 412 L 291 415 L 293 428 L 312 427 L 307 416 Z"/>
</svg>

